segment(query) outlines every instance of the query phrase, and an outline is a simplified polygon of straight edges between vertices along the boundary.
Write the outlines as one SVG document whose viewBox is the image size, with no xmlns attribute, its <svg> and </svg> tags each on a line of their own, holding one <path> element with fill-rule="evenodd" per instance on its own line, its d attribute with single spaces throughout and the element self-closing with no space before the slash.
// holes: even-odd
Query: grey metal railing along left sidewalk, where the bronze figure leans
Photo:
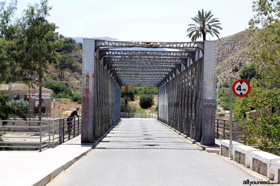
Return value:
<svg viewBox="0 0 280 186">
<path fill-rule="evenodd" d="M 80 117 L 44 121 L 0 120 L 0 148 L 55 147 L 81 134 Z M 5 125 L 3 125 L 5 123 Z M 31 126 L 38 125 L 38 126 Z"/>
</svg>

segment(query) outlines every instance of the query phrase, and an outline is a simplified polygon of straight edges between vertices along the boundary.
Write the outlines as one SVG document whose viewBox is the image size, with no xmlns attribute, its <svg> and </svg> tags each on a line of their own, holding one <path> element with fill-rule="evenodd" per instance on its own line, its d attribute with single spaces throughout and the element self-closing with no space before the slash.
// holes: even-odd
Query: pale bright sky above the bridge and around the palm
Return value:
<svg viewBox="0 0 280 186">
<path fill-rule="evenodd" d="M 39 2 L 18 1 L 17 16 L 28 3 Z M 220 37 L 245 30 L 253 17 L 251 0 L 49 0 L 49 6 L 53 8 L 48 20 L 64 36 L 132 41 L 190 41 L 186 32 L 193 23 L 190 18 L 202 8 L 219 18 Z M 207 35 L 209 39 L 217 38 Z"/>
</svg>

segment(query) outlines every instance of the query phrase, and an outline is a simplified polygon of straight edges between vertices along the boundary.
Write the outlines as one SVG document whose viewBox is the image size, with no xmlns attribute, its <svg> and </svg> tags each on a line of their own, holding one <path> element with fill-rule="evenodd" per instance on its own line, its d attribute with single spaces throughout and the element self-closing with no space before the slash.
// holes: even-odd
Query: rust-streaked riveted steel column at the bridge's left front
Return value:
<svg viewBox="0 0 280 186">
<path fill-rule="evenodd" d="M 95 40 L 83 39 L 82 143 L 94 143 Z"/>
</svg>

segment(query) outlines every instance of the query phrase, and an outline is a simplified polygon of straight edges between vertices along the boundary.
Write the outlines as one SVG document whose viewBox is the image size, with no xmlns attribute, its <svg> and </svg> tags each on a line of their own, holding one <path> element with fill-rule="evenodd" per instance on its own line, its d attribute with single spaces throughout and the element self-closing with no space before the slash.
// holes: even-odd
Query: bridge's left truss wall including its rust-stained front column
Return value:
<svg viewBox="0 0 280 186">
<path fill-rule="evenodd" d="M 98 53 L 98 51 L 97 51 Z M 83 40 L 82 143 L 95 143 L 120 120 L 120 86 L 101 65 L 95 40 Z"/>
</svg>

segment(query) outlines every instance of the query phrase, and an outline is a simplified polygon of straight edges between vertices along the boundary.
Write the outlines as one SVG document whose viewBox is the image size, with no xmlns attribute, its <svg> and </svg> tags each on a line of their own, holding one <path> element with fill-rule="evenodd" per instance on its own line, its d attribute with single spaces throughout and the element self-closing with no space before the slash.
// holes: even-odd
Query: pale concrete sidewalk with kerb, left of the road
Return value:
<svg viewBox="0 0 280 186">
<path fill-rule="evenodd" d="M 0 185 L 46 185 L 52 178 L 88 153 L 94 144 L 81 144 L 81 135 L 53 149 L 0 151 Z"/>
</svg>

